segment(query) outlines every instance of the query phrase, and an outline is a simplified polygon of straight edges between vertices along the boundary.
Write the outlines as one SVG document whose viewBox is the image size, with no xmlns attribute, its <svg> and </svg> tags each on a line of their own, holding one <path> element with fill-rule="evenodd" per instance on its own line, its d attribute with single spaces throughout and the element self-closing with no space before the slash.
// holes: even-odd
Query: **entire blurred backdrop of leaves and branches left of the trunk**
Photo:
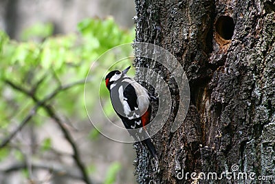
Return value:
<svg viewBox="0 0 275 184">
<path fill-rule="evenodd" d="M 115 56 L 96 63 L 83 99 L 91 64 L 133 41 L 134 16 L 129 0 L 0 1 L 0 183 L 135 183 L 133 145 L 102 136 L 84 105 L 106 121 L 93 83 Z M 120 124 L 109 93 L 100 94 Z"/>
</svg>

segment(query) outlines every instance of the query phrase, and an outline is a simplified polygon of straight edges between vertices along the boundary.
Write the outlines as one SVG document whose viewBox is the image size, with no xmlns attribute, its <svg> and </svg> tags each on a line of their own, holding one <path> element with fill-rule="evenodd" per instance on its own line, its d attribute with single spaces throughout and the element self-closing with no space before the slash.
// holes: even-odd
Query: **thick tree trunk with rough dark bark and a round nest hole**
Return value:
<svg viewBox="0 0 275 184">
<path fill-rule="evenodd" d="M 159 172 L 153 172 L 148 152 L 137 150 L 137 183 L 275 183 L 274 1 L 135 4 L 135 41 L 175 55 L 190 85 L 186 119 L 170 132 L 181 86 L 154 64 L 169 83 L 173 108 L 153 136 Z M 135 65 L 153 64 L 137 58 Z M 258 181 L 261 177 L 267 181 Z"/>
</svg>

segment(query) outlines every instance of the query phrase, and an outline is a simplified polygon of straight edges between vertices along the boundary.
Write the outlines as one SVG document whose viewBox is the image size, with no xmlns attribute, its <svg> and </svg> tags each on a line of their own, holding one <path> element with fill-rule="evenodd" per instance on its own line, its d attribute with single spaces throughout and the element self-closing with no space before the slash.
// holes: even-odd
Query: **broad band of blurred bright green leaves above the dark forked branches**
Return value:
<svg viewBox="0 0 275 184">
<path fill-rule="evenodd" d="M 78 23 L 78 30 L 80 34 L 47 37 L 52 34 L 52 25 L 39 23 L 23 31 L 24 39 L 30 39 L 32 36 L 45 37 L 42 43 L 12 41 L 5 32 L 0 31 L 1 79 L 9 79 L 28 90 L 36 88 L 36 83 L 44 79 L 36 89 L 36 97 L 43 99 L 60 84 L 66 85 L 85 79 L 91 64 L 102 53 L 116 45 L 129 43 L 133 40 L 133 32 L 121 30 L 111 18 L 104 21 L 85 19 Z M 125 52 L 129 52 L 129 50 L 125 50 Z M 93 81 L 102 80 L 102 72 L 105 72 L 104 66 L 111 65 L 113 59 L 113 56 L 110 55 L 109 58 L 97 63 L 96 70 L 93 71 Z M 5 84 L 2 81 L 0 89 L 3 88 L 3 85 Z M 58 94 L 55 99 L 56 108 L 66 116 L 73 115 L 76 118 L 86 119 L 83 88 L 83 85 L 77 86 Z M 93 91 L 91 90 L 90 96 L 94 95 Z M 107 96 L 105 89 L 102 90 L 102 93 Z M 12 92 L 9 95 L 12 95 L 14 101 L 16 99 L 19 106 L 20 103 L 25 103 L 25 96 L 18 98 L 18 92 Z M 94 105 L 95 98 L 87 101 L 89 103 L 86 105 L 91 107 Z M 10 108 L 11 105 L 10 101 L 5 101 L 5 98 L 0 100 L 0 104 L 0 112 Z M 4 119 L 6 119 L 5 116 L 0 117 L 0 121 Z"/>
</svg>

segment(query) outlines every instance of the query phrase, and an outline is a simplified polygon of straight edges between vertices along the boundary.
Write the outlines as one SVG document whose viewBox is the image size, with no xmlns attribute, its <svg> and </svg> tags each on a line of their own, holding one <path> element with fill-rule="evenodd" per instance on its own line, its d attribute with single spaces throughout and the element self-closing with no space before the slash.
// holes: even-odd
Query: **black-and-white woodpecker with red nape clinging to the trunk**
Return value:
<svg viewBox="0 0 275 184">
<path fill-rule="evenodd" d="M 126 75 L 130 68 L 131 66 L 122 72 L 119 70 L 109 72 L 105 78 L 106 87 L 110 92 L 113 109 L 122 120 L 124 127 L 127 130 L 138 129 L 137 133 L 148 135 L 145 125 L 150 123 L 151 101 L 155 97 L 149 94 L 146 88 L 142 87 L 140 83 L 137 83 L 137 81 Z M 135 141 L 145 145 L 153 158 L 156 158 L 157 152 L 150 136 L 140 141 L 139 134 L 133 134 L 131 131 L 129 133 Z"/>
</svg>

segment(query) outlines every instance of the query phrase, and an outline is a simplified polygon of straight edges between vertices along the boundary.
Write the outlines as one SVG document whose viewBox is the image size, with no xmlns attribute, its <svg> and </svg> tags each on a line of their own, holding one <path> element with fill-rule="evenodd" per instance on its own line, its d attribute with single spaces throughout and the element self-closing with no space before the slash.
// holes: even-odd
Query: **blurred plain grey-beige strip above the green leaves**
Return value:
<svg viewBox="0 0 275 184">
<path fill-rule="evenodd" d="M 134 1 L 127 0 L 1 0 L 0 28 L 12 39 L 35 23 L 52 23 L 54 34 L 76 31 L 85 18 L 104 19 L 111 15 L 120 28 L 133 28 Z"/>
</svg>

